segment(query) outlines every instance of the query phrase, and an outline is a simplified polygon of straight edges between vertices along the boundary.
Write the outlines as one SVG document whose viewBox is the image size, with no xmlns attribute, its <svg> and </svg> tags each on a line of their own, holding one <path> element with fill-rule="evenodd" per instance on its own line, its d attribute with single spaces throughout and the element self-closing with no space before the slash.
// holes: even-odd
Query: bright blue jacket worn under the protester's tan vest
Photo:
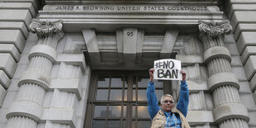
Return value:
<svg viewBox="0 0 256 128">
<path fill-rule="evenodd" d="M 149 82 L 148 88 L 147 88 L 147 100 L 148 100 L 148 111 L 149 115 L 151 117 L 151 120 L 154 118 L 154 116 L 157 114 L 157 112 L 161 109 L 158 106 L 157 97 L 155 95 L 155 87 L 154 83 Z M 180 95 L 178 99 L 178 104 L 176 108 L 183 113 L 184 116 L 187 116 L 187 107 L 189 102 L 189 91 L 187 88 L 187 82 L 181 81 L 180 85 Z M 175 116 L 172 112 L 164 112 L 165 116 L 169 121 L 167 120 L 167 123 L 170 123 L 170 126 L 175 126 L 177 122 L 174 122 L 175 120 L 178 120 L 178 123 L 180 124 L 180 118 L 178 116 Z M 174 121 L 172 121 L 174 119 Z"/>
</svg>

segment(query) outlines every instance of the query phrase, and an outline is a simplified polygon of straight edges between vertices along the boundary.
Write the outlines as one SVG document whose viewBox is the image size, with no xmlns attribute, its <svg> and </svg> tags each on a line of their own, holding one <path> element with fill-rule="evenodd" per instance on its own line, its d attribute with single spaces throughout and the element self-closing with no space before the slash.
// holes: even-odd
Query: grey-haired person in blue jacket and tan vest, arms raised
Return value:
<svg viewBox="0 0 256 128">
<path fill-rule="evenodd" d="M 190 128 L 186 116 L 189 102 L 189 91 L 186 83 L 186 73 L 181 70 L 183 81 L 177 107 L 174 107 L 173 97 L 169 94 L 161 97 L 161 107 L 158 106 L 154 93 L 154 69 L 149 69 L 149 85 L 147 88 L 148 111 L 151 117 L 151 128 Z"/>
</svg>

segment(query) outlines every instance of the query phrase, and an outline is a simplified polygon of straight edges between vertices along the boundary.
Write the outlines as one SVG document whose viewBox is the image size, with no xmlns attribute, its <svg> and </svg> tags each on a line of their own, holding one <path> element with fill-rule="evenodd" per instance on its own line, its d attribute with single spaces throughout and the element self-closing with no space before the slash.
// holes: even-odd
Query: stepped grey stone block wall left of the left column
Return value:
<svg viewBox="0 0 256 128">
<path fill-rule="evenodd" d="M 17 96 L 17 72 L 24 69 L 21 53 L 38 7 L 36 0 L 0 2 L 0 127 L 6 126 L 7 109 Z"/>
</svg>

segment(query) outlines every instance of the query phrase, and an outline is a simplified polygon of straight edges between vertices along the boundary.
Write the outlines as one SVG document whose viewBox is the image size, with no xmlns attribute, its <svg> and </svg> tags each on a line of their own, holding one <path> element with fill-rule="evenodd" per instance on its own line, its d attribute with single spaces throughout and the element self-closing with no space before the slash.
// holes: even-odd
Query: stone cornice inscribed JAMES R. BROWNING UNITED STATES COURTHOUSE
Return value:
<svg viewBox="0 0 256 128">
<path fill-rule="evenodd" d="M 217 22 L 222 21 L 223 16 L 217 6 L 122 3 L 45 5 L 39 14 L 40 20 L 63 20 L 65 32 L 81 32 L 89 28 L 113 32 L 129 26 L 158 33 L 186 27 L 186 30 L 178 31 L 193 33 L 198 31 L 198 20 Z M 157 26 L 157 29 L 152 26 Z"/>
</svg>

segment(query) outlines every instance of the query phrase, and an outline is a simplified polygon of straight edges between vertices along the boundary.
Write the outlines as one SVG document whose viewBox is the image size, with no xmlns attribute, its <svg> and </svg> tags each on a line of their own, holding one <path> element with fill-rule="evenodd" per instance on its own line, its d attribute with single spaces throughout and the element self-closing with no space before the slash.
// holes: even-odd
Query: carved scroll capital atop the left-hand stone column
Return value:
<svg viewBox="0 0 256 128">
<path fill-rule="evenodd" d="M 56 39 L 61 40 L 64 37 L 63 21 L 40 21 L 33 19 L 29 29 L 32 33 L 36 33 L 38 38 L 45 38 L 47 36 L 55 36 Z"/>
</svg>

